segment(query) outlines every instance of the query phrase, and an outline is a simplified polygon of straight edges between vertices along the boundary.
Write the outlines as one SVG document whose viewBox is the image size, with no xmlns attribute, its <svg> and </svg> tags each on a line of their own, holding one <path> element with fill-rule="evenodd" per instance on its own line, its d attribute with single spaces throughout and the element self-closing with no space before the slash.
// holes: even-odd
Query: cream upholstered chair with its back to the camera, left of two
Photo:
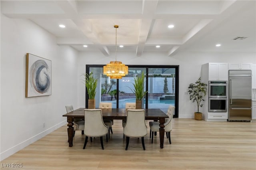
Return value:
<svg viewBox="0 0 256 170">
<path fill-rule="evenodd" d="M 100 144 L 104 150 L 102 136 L 106 135 L 108 142 L 108 129 L 109 127 L 104 124 L 101 109 L 84 109 L 84 147 L 85 149 L 88 137 L 100 137 Z M 92 141 L 92 140 L 91 140 Z"/>
</svg>

